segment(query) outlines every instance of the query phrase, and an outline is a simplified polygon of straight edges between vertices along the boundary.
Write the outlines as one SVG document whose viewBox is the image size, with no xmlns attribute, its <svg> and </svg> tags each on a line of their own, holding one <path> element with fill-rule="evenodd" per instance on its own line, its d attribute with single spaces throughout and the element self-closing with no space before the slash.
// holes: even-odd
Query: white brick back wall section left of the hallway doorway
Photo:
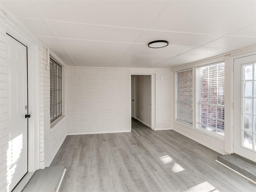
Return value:
<svg viewBox="0 0 256 192">
<path fill-rule="evenodd" d="M 67 68 L 68 134 L 130 130 L 129 70 Z"/>
</svg>

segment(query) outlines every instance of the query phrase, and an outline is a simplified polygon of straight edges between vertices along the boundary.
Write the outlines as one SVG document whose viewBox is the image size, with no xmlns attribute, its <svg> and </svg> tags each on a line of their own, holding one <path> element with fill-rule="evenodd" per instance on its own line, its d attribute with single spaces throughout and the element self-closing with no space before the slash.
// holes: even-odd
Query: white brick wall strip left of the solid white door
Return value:
<svg viewBox="0 0 256 192">
<path fill-rule="evenodd" d="M 8 87 L 6 67 L 6 21 L 0 10 L 0 191 L 7 191 Z"/>
</svg>

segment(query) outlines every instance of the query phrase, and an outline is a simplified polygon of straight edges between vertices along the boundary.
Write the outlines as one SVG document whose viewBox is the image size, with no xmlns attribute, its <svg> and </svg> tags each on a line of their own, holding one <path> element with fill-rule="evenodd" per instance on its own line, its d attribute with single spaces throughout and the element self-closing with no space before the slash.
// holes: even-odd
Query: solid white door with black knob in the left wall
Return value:
<svg viewBox="0 0 256 192">
<path fill-rule="evenodd" d="M 9 88 L 8 185 L 11 191 L 28 172 L 27 47 L 6 35 Z"/>
</svg>

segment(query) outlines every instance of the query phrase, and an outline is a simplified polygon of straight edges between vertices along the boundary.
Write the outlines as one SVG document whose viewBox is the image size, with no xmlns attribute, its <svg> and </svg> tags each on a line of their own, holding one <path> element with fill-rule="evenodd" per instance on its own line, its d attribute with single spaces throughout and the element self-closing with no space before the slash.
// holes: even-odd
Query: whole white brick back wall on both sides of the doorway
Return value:
<svg viewBox="0 0 256 192">
<path fill-rule="evenodd" d="M 68 134 L 130 131 L 132 71 L 120 68 L 68 67 L 65 86 Z M 156 74 L 156 128 L 171 129 L 171 70 L 140 71 L 149 72 Z M 160 80 L 160 76 L 163 80 Z"/>
</svg>

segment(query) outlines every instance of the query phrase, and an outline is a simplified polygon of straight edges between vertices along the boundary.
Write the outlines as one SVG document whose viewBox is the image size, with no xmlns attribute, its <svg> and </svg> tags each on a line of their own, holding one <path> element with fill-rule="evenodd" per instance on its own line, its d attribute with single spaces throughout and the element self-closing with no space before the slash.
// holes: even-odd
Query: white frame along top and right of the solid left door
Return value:
<svg viewBox="0 0 256 192">
<path fill-rule="evenodd" d="M 6 11 L 4 11 L 6 12 Z M 39 169 L 39 119 L 40 119 L 40 82 L 39 82 L 39 49 L 37 40 L 30 38 L 14 18 L 6 14 L 6 33 L 26 45 L 28 48 L 28 172 Z"/>
</svg>

